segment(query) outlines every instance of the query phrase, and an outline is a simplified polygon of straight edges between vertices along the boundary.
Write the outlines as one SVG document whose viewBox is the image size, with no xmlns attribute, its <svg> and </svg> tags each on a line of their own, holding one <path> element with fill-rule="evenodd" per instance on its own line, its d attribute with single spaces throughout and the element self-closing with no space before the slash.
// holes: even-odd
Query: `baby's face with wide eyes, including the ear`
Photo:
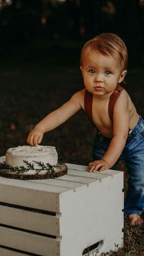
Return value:
<svg viewBox="0 0 144 256">
<path fill-rule="evenodd" d="M 121 71 L 120 63 L 112 56 L 104 56 L 99 51 L 85 49 L 81 66 L 85 88 L 94 95 L 113 92 L 123 81 L 126 70 Z"/>
</svg>

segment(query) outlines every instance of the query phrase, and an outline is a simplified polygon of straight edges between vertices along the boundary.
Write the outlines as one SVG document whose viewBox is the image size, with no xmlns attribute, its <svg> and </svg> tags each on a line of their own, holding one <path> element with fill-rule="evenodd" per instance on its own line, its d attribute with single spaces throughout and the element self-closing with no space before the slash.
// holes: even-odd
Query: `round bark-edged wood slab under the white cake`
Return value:
<svg viewBox="0 0 144 256">
<path fill-rule="evenodd" d="M 17 180 L 43 180 L 48 178 L 57 178 L 61 177 L 68 172 L 68 167 L 65 164 L 61 164 L 59 168 L 55 170 L 52 174 L 28 174 L 24 172 L 13 172 L 12 170 L 0 169 L 0 176 L 5 178 L 15 178 Z"/>
</svg>

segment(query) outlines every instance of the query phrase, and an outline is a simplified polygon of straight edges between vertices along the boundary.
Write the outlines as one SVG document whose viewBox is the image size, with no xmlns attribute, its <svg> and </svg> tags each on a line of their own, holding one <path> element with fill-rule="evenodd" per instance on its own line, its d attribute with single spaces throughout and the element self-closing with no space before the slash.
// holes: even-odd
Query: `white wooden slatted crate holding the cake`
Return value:
<svg viewBox="0 0 144 256">
<path fill-rule="evenodd" d="M 67 166 L 49 180 L 0 177 L 1 256 L 99 256 L 123 245 L 123 172 Z"/>
</svg>

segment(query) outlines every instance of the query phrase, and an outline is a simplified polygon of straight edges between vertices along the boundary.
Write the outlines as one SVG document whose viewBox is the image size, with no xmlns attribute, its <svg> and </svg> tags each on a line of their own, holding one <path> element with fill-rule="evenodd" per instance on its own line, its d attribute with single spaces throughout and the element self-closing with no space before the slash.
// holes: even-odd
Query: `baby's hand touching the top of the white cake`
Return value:
<svg viewBox="0 0 144 256">
<path fill-rule="evenodd" d="M 34 128 L 27 137 L 27 143 L 31 146 L 36 146 L 40 144 L 43 139 L 43 131 Z"/>
</svg>

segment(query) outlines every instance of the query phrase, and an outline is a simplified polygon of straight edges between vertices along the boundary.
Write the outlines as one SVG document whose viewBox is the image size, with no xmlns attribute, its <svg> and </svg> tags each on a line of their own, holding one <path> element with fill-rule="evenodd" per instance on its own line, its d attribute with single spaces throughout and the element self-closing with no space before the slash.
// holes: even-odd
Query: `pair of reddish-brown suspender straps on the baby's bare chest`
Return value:
<svg viewBox="0 0 144 256">
<path fill-rule="evenodd" d="M 115 106 L 115 102 L 117 101 L 122 91 L 123 91 L 123 87 L 121 87 L 120 84 L 118 84 L 109 99 L 109 117 L 110 117 L 110 120 L 112 120 L 112 122 L 113 122 L 113 108 Z M 93 94 L 88 92 L 88 90 L 85 90 L 85 98 L 84 98 L 85 114 L 87 114 L 88 119 L 95 126 L 95 124 L 93 123 L 93 116 L 92 116 L 92 102 L 93 102 Z"/>
</svg>

